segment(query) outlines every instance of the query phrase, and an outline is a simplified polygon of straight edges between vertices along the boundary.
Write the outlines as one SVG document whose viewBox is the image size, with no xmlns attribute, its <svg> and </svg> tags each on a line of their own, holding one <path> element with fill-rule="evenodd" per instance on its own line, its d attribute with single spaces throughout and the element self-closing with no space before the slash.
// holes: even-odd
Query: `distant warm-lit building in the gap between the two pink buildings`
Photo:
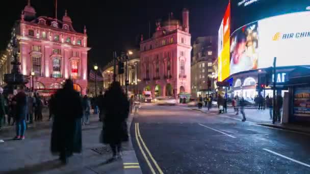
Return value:
<svg viewBox="0 0 310 174">
<path fill-rule="evenodd" d="M 128 51 L 128 61 L 127 61 L 127 79 L 129 81 L 128 85 L 128 93 L 130 94 L 141 94 L 138 89 L 138 84 L 141 82 L 140 79 L 140 57 L 139 50 L 131 50 Z M 122 61 L 126 62 L 126 60 L 121 57 L 117 58 L 117 62 Z M 125 67 L 126 68 L 126 63 Z M 104 90 L 108 90 L 109 86 L 113 82 L 113 73 L 114 73 L 114 62 L 110 62 L 106 67 L 104 67 L 104 71 L 102 72 L 102 77 L 104 77 Z M 119 81 L 120 84 L 125 89 L 125 80 L 126 80 L 126 69 L 123 74 L 118 74 L 118 64 L 116 64 L 116 81 Z"/>
</svg>

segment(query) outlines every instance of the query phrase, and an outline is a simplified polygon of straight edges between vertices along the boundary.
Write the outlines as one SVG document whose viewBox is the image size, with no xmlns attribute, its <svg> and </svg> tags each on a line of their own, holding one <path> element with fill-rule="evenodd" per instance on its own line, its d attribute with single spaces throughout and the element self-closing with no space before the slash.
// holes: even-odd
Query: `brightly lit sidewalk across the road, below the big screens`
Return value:
<svg viewBox="0 0 310 174">
<path fill-rule="evenodd" d="M 233 108 L 228 107 L 227 113 L 219 114 L 218 113 L 218 108 L 217 106 L 213 106 L 212 109 L 208 111 L 208 108 L 201 108 L 198 109 L 197 107 L 190 107 L 193 110 L 199 110 L 205 113 L 213 113 L 213 114 L 218 114 L 223 117 L 229 117 L 232 119 L 240 120 L 242 114 L 239 111 L 239 115 L 236 115 L 236 112 L 234 111 Z M 272 124 L 272 120 L 270 119 L 270 114 L 269 114 L 269 109 L 265 110 L 257 110 L 257 109 L 250 109 L 246 108 L 245 109 L 245 115 L 246 119 L 248 122 L 252 124 L 257 124 L 261 126 L 268 126 L 268 127 L 273 127 L 273 128 L 278 128 L 278 129 L 285 129 L 285 130 L 290 130 L 290 131 L 297 131 L 297 132 L 302 132 L 302 133 L 310 133 L 310 127 L 306 126 L 300 126 L 300 125 L 294 125 L 294 124 L 281 124 L 281 123 L 275 123 Z"/>
</svg>

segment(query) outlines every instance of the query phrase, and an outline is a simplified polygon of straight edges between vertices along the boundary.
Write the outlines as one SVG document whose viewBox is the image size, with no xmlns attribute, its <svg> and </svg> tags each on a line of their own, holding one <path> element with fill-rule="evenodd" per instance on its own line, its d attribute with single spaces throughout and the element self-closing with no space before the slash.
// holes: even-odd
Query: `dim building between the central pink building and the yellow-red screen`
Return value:
<svg viewBox="0 0 310 174">
<path fill-rule="evenodd" d="M 216 91 L 215 74 L 217 73 L 217 38 L 214 36 L 198 37 L 193 44 L 191 65 L 192 97 L 214 94 Z"/>
</svg>

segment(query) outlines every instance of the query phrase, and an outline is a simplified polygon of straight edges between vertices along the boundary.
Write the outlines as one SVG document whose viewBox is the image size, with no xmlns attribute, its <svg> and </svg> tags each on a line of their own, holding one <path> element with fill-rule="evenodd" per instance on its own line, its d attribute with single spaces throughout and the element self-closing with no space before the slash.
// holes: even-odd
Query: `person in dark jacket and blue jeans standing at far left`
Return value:
<svg viewBox="0 0 310 174">
<path fill-rule="evenodd" d="M 28 98 L 24 86 L 20 86 L 16 95 L 16 136 L 14 139 L 25 139 L 26 117 L 28 113 Z"/>
</svg>

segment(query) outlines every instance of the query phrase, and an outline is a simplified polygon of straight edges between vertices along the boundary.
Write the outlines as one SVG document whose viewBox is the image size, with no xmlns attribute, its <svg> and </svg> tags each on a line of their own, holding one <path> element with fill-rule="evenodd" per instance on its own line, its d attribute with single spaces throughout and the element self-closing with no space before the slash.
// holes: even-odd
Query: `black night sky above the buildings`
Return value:
<svg viewBox="0 0 310 174">
<path fill-rule="evenodd" d="M 31 4 L 37 17 L 55 16 L 55 0 L 32 0 Z M 89 67 L 95 63 L 104 66 L 111 61 L 114 50 L 138 48 L 141 34 L 148 38 L 149 22 L 152 34 L 157 19 L 167 18 L 170 12 L 180 19 L 183 8 L 190 10 L 192 42 L 198 36 L 217 35 L 227 4 L 228 0 L 58 0 L 58 19 L 62 19 L 67 9 L 75 31 L 82 32 L 86 25 L 88 46 L 92 48 Z M 11 0 L 1 5 L 0 50 L 6 48 L 11 27 L 20 19 L 25 5 L 27 0 Z"/>
</svg>

